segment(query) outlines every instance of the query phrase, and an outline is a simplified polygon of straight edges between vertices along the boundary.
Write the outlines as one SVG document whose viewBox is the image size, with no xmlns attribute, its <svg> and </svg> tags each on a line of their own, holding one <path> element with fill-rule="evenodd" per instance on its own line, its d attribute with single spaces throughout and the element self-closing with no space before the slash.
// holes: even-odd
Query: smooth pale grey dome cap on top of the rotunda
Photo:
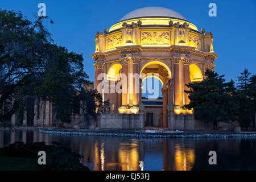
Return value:
<svg viewBox="0 0 256 182">
<path fill-rule="evenodd" d="M 164 7 L 143 7 L 130 13 L 126 14 L 119 20 L 119 22 L 127 19 L 135 19 L 142 17 L 168 17 L 168 18 L 176 18 L 176 19 L 185 19 L 185 17 L 174 10 L 170 10 Z"/>
</svg>

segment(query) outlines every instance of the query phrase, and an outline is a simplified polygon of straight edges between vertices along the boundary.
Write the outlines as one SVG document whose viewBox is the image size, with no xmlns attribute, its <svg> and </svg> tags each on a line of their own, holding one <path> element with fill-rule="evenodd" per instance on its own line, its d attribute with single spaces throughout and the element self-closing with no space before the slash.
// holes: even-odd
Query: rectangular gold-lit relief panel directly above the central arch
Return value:
<svg viewBox="0 0 256 182">
<path fill-rule="evenodd" d="M 170 44 L 169 32 L 141 32 L 141 44 Z"/>
</svg>

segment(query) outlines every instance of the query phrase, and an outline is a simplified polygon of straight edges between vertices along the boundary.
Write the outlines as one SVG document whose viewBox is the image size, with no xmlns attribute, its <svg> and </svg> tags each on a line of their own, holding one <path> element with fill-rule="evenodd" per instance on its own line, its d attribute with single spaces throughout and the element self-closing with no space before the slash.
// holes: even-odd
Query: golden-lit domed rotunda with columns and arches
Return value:
<svg viewBox="0 0 256 182">
<path fill-rule="evenodd" d="M 138 73 L 140 84 L 148 75 L 154 77 L 158 73 L 155 77 L 163 84 L 163 122 L 159 126 L 182 129 L 176 123 L 174 127 L 168 123 L 174 123 L 175 115 L 192 114 L 192 110 L 184 109 L 189 103 L 185 84 L 202 81 L 206 69 L 214 70 L 217 54 L 213 52 L 212 33 L 203 28 L 199 32 L 194 24 L 173 10 L 144 7 L 123 16 L 109 31 L 97 32 L 95 40 L 96 51 L 92 54 L 95 88 L 101 82 L 97 79 L 100 73 L 108 75 L 105 81 L 109 86 L 103 90 L 116 86 L 119 73 Z M 129 82 L 134 78 L 127 79 Z M 135 81 L 133 85 L 127 84 L 127 89 L 133 92 L 102 93 L 104 100 L 112 104 L 114 113 L 139 113 L 142 97 L 134 92 Z"/>
</svg>

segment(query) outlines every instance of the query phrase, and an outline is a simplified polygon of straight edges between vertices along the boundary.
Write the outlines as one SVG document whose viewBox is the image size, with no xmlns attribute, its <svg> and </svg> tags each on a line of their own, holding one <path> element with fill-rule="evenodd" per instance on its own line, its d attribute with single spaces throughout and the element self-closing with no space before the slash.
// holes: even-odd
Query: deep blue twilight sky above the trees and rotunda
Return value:
<svg viewBox="0 0 256 182">
<path fill-rule="evenodd" d="M 85 71 L 94 80 L 94 37 L 97 31 L 110 28 L 125 14 L 146 6 L 160 6 L 183 15 L 199 30 L 213 33 L 213 51 L 218 54 L 216 71 L 225 75 L 227 81 L 237 80 L 243 68 L 256 74 L 256 1 L 65 1 L 65 0 L 9 0 L 1 1 L 1 9 L 21 11 L 35 20 L 38 4 L 46 4 L 46 13 L 54 24 L 46 22 L 55 43 L 69 51 L 82 53 Z M 217 17 L 208 15 L 208 5 L 217 5 Z"/>
</svg>

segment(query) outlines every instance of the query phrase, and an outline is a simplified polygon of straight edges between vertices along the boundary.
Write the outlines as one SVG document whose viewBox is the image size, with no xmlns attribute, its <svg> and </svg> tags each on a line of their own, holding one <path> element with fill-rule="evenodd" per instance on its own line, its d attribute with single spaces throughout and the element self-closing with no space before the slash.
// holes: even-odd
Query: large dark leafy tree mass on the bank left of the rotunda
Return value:
<svg viewBox="0 0 256 182">
<path fill-rule="evenodd" d="M 82 55 L 53 43 L 43 19 L 30 22 L 21 13 L 0 9 L 0 122 L 14 113 L 22 118 L 27 96 L 52 101 L 60 123 L 70 122 L 74 102 L 83 86 L 91 84 Z M 96 103 L 101 102 L 90 106 L 97 107 Z M 87 114 L 94 115 L 94 110 Z"/>
</svg>

